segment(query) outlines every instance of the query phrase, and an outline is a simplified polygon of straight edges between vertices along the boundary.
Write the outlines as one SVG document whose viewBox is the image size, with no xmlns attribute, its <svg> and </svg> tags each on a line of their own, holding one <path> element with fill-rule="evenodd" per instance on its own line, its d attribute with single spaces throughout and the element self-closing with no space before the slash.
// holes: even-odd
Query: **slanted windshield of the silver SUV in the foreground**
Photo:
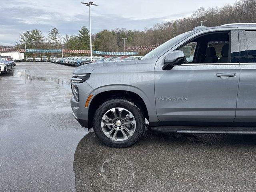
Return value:
<svg viewBox="0 0 256 192">
<path fill-rule="evenodd" d="M 165 50 L 166 48 L 170 47 L 173 43 L 175 43 L 176 41 L 178 41 L 179 39 L 183 38 L 184 36 L 188 35 L 188 33 L 190 32 L 186 32 L 186 33 L 182 33 L 168 41 L 166 41 L 165 43 L 163 43 L 162 45 L 158 46 L 157 48 L 155 48 L 154 50 L 150 51 L 148 54 L 146 54 L 145 56 L 143 56 L 142 58 L 140 58 L 141 60 L 143 59 L 148 59 L 151 58 L 155 55 L 157 55 L 158 53 L 162 52 L 163 50 Z"/>
</svg>

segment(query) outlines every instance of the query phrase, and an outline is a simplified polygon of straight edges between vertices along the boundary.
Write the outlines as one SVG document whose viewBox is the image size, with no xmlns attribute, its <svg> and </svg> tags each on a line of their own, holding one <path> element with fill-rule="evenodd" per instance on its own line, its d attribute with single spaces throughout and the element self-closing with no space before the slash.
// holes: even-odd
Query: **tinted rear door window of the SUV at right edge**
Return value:
<svg viewBox="0 0 256 192">
<path fill-rule="evenodd" d="M 256 31 L 246 31 L 248 62 L 256 63 Z"/>
</svg>

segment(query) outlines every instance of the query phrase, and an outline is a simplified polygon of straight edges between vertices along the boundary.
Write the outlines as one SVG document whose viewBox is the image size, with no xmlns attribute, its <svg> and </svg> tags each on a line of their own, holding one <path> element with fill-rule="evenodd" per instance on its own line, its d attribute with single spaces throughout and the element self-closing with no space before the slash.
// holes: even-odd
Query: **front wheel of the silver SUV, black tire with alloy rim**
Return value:
<svg viewBox="0 0 256 192">
<path fill-rule="evenodd" d="M 114 109 L 118 111 L 120 110 L 120 112 L 118 112 L 118 114 L 120 115 L 117 115 L 117 114 L 115 115 L 114 112 L 110 111 Z M 112 113 L 114 116 L 112 115 Z M 128 113 L 129 115 L 126 113 Z M 118 118 L 115 119 L 116 122 L 110 121 L 112 124 L 110 126 L 102 126 L 104 122 L 106 123 L 106 120 L 103 119 L 103 118 L 106 118 L 106 116 L 108 117 L 112 116 L 113 120 L 116 117 L 118 117 L 119 119 Z M 121 120 L 124 120 L 124 121 L 121 122 Z M 107 123 L 108 122 L 109 121 L 107 120 Z M 120 122 L 123 124 L 120 125 L 119 124 Z M 133 123 L 129 124 L 129 122 L 133 122 Z M 118 127 L 115 128 L 114 126 L 118 126 Z M 124 148 L 124 147 L 131 146 L 134 143 L 136 143 L 138 140 L 140 140 L 140 138 L 142 137 L 145 131 L 145 117 L 142 111 L 140 110 L 140 108 L 138 108 L 138 106 L 136 106 L 136 104 L 134 104 L 133 102 L 125 98 L 110 98 L 109 100 L 106 100 L 105 102 L 103 102 L 97 108 L 93 118 L 93 129 L 96 136 L 104 144 L 110 147 Z M 111 134 L 110 136 L 106 136 L 106 134 L 110 133 L 111 130 L 113 130 L 114 132 L 114 133 L 111 133 L 112 136 Z M 106 134 L 104 133 L 104 131 Z M 115 133 L 116 133 L 116 136 L 114 136 Z M 124 133 L 126 136 L 124 135 Z M 121 137 L 119 138 L 118 136 L 121 136 Z"/>
</svg>

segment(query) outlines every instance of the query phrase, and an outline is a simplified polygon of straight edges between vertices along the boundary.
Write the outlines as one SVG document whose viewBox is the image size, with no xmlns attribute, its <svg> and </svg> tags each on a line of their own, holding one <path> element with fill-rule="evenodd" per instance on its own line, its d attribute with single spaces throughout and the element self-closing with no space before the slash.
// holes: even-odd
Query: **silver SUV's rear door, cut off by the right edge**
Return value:
<svg viewBox="0 0 256 192">
<path fill-rule="evenodd" d="M 256 122 L 256 28 L 238 28 L 240 83 L 235 122 Z"/>
</svg>

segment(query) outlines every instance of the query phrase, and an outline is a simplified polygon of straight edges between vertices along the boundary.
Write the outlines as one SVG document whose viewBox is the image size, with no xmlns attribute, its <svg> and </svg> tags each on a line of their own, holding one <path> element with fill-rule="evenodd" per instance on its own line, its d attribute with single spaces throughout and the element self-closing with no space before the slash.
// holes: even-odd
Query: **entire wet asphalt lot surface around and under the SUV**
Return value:
<svg viewBox="0 0 256 192">
<path fill-rule="evenodd" d="M 256 191 L 256 136 L 160 134 L 116 149 L 73 118 L 74 67 L 0 75 L 0 191 Z"/>
</svg>

